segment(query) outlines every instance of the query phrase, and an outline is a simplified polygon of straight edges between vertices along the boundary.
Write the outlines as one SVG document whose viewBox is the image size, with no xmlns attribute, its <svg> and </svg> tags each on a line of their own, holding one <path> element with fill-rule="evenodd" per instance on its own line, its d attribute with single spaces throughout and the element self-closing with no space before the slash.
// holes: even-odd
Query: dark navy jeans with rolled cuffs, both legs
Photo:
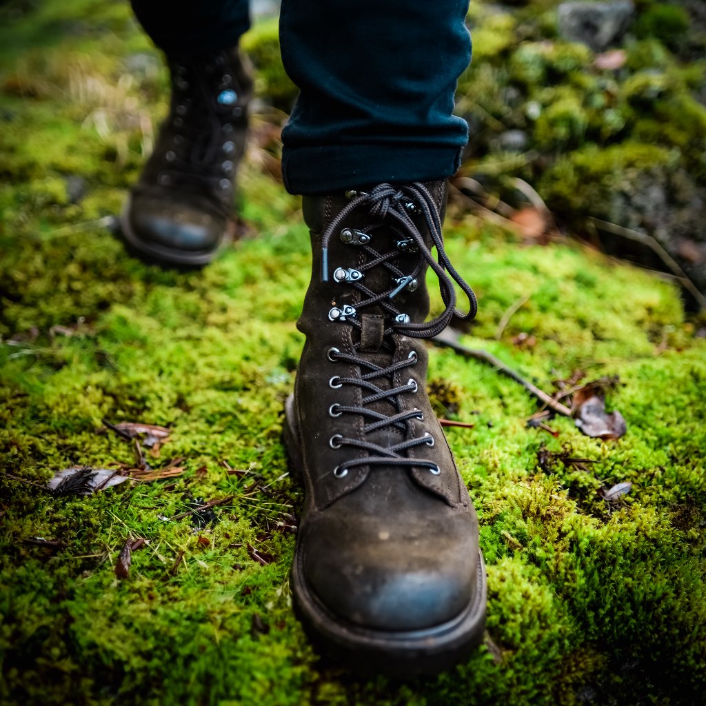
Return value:
<svg viewBox="0 0 706 706">
<path fill-rule="evenodd" d="M 172 56 L 216 52 L 249 27 L 247 0 L 132 0 Z M 453 115 L 471 58 L 468 0 L 283 0 L 280 44 L 300 90 L 282 133 L 292 193 L 448 177 L 468 138 Z"/>
</svg>

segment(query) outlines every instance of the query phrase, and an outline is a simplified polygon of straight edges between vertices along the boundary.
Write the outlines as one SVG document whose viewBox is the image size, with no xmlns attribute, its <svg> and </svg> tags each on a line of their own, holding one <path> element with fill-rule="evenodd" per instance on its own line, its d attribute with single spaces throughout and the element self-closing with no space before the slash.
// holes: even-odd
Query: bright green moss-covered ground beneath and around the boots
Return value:
<svg viewBox="0 0 706 706">
<path fill-rule="evenodd" d="M 157 55 L 122 2 L 4 13 L 2 703 L 701 702 L 706 341 L 673 285 L 569 242 L 525 246 L 452 201 L 448 251 L 481 301 L 465 342 L 549 392 L 575 371 L 619 376 L 609 407 L 628 433 L 530 428 L 520 385 L 434 349 L 439 414 L 475 425 L 448 438 L 479 511 L 486 640 L 438 678 L 356 678 L 318 660 L 292 613 L 301 491 L 280 430 L 310 256 L 265 119 L 241 174 L 244 239 L 202 272 L 144 265 L 111 227 L 164 112 Z M 133 463 L 104 418 L 168 426 L 148 462 L 184 474 L 49 495 L 60 469 Z M 148 544 L 117 578 L 129 537 Z"/>
</svg>

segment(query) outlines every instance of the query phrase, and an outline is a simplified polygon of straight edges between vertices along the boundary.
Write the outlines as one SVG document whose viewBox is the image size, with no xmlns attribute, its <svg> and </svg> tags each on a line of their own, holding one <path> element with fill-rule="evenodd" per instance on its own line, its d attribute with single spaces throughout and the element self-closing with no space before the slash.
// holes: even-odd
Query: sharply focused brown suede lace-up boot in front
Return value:
<svg viewBox="0 0 706 706">
<path fill-rule="evenodd" d="M 402 676 L 455 664 L 485 622 L 477 517 L 426 395 L 419 340 L 476 308 L 443 249 L 445 200 L 445 181 L 304 198 L 313 277 L 285 426 L 306 489 L 292 590 L 328 654 Z M 425 322 L 428 266 L 445 311 Z"/>
</svg>

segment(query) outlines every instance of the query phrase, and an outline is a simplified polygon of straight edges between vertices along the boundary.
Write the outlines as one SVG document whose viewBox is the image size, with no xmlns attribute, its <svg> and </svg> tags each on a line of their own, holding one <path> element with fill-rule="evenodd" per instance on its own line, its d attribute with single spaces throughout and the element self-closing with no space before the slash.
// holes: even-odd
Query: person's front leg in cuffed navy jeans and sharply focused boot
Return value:
<svg viewBox="0 0 706 706">
<path fill-rule="evenodd" d="M 469 61 L 464 0 L 285 0 L 287 188 L 304 193 L 313 276 L 285 441 L 306 486 L 292 569 L 299 614 L 347 664 L 445 669 L 482 639 L 478 525 L 426 394 L 426 347 L 455 310 L 445 177 Z M 421 183 L 424 182 L 424 183 Z M 431 253 L 436 247 L 438 262 Z M 425 275 L 445 310 L 426 322 Z"/>
</svg>

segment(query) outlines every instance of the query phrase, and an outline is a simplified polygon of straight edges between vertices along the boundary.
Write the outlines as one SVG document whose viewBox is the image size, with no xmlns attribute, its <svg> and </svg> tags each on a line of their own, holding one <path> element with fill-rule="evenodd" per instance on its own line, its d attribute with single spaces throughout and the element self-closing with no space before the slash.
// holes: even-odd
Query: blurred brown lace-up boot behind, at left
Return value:
<svg viewBox="0 0 706 706">
<path fill-rule="evenodd" d="M 169 61 L 169 71 L 169 115 L 121 229 L 128 246 L 150 261 L 205 265 L 233 235 L 252 79 L 237 47 Z"/>
</svg>

